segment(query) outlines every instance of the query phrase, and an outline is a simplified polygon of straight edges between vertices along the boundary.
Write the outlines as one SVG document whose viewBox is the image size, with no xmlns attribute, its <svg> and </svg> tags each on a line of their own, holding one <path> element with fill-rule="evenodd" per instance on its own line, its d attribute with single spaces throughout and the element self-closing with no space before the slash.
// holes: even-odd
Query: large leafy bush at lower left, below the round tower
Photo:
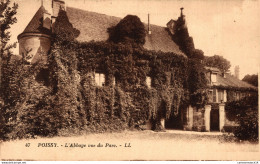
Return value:
<svg viewBox="0 0 260 164">
<path fill-rule="evenodd" d="M 28 80 L 28 79 L 27 79 Z M 47 87 L 30 81 L 26 97 L 15 106 L 16 119 L 9 122 L 12 128 L 9 138 L 35 138 L 57 134 L 58 113 L 52 108 L 53 97 Z"/>
</svg>

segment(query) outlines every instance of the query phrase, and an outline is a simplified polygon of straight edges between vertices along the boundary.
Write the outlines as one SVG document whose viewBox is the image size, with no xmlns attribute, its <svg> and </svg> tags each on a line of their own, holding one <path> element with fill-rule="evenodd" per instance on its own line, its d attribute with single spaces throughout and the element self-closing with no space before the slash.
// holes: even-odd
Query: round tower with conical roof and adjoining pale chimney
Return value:
<svg viewBox="0 0 260 164">
<path fill-rule="evenodd" d="M 51 9 L 48 11 L 50 3 L 43 3 L 35 13 L 24 31 L 18 35 L 19 54 L 26 56 L 30 63 L 39 60 L 46 63 L 47 54 L 51 47 L 52 24 L 55 22 L 59 10 L 65 10 L 65 3 L 61 0 L 52 0 Z"/>
</svg>

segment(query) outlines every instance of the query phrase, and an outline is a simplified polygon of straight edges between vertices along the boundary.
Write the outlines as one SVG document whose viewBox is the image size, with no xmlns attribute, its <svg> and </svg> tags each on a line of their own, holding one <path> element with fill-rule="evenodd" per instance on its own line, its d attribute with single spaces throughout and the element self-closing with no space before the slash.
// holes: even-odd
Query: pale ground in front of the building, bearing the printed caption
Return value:
<svg viewBox="0 0 260 164">
<path fill-rule="evenodd" d="M 1 143 L 2 160 L 259 160 L 259 145 L 222 133 L 123 131 Z"/>
</svg>

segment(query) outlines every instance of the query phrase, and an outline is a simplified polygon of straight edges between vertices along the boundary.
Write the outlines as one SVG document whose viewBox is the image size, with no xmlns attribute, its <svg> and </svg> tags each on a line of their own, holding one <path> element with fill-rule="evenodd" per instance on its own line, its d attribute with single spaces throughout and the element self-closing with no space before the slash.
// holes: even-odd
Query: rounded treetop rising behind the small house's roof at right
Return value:
<svg viewBox="0 0 260 164">
<path fill-rule="evenodd" d="M 231 67 L 230 61 L 225 59 L 223 56 L 205 56 L 204 63 L 208 67 L 216 67 L 222 72 L 227 72 Z"/>
</svg>

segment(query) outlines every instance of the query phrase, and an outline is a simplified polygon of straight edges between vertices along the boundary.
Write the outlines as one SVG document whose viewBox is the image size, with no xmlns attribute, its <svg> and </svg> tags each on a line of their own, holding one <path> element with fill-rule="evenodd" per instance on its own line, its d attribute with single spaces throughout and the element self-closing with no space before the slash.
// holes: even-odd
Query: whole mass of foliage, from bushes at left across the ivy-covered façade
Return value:
<svg viewBox="0 0 260 164">
<path fill-rule="evenodd" d="M 205 104 L 200 60 L 128 44 L 144 44 L 139 21 L 135 16 L 122 20 L 116 26 L 124 34 L 118 42 L 79 43 L 79 32 L 60 11 L 48 62 L 27 65 L 24 55 L 6 70 L 6 84 L 13 93 L 4 107 L 6 136 L 115 131 L 140 128 L 147 120 L 154 120 L 154 128 L 160 130 L 162 118 L 178 115 L 189 104 Z M 124 31 L 131 23 L 139 25 Z M 37 80 L 42 70 L 48 72 L 45 81 Z M 105 86 L 95 84 L 95 72 L 105 74 Z M 152 78 L 151 88 L 147 76 Z"/>
</svg>

